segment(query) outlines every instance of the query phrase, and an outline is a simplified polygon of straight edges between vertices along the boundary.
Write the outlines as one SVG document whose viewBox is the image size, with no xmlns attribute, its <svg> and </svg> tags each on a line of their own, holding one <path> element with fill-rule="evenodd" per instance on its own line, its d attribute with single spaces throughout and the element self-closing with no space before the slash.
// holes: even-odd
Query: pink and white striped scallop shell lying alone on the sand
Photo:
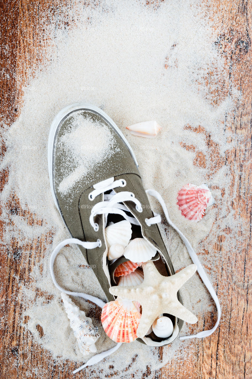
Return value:
<svg viewBox="0 0 252 379">
<path fill-rule="evenodd" d="M 206 184 L 196 186 L 188 183 L 177 194 L 177 205 L 182 216 L 191 221 L 201 220 L 205 209 L 213 203 L 212 193 Z"/>
</svg>

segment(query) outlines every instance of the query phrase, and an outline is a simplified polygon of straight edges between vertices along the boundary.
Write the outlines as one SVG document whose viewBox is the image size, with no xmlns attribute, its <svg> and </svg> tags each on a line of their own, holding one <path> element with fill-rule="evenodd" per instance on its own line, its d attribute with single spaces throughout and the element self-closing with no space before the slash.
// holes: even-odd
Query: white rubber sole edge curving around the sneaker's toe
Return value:
<svg viewBox="0 0 252 379">
<path fill-rule="evenodd" d="M 103 110 L 101 110 L 100 108 L 98 108 L 95 105 L 88 104 L 88 103 L 74 103 L 74 104 L 68 105 L 65 108 L 63 108 L 54 117 L 54 120 L 53 120 L 53 122 L 51 124 L 50 132 L 49 132 L 49 137 L 48 137 L 48 172 L 49 172 L 51 193 L 53 195 L 54 203 L 55 203 L 55 205 L 56 205 L 59 213 L 61 214 L 61 217 L 62 217 L 63 221 L 64 221 L 64 218 L 63 218 L 61 210 L 59 208 L 58 199 L 57 199 L 57 196 L 56 196 L 56 193 L 55 193 L 55 189 L 54 189 L 54 185 L 53 185 L 54 143 L 55 143 L 58 127 L 61 125 L 61 122 L 64 121 L 64 119 L 66 117 L 68 117 L 70 113 L 72 113 L 73 111 L 76 111 L 76 110 L 90 110 L 90 111 L 93 111 L 93 112 L 101 115 L 102 117 L 104 117 L 104 119 L 111 125 L 111 127 L 115 130 L 115 132 L 118 134 L 118 136 L 123 140 L 124 144 L 126 145 L 126 147 L 128 148 L 129 152 L 131 153 L 131 156 L 132 156 L 132 158 L 133 158 L 133 160 L 135 162 L 135 165 L 138 168 L 137 159 L 136 159 L 135 154 L 134 154 L 131 146 L 129 145 L 128 141 L 126 140 L 126 138 L 124 137 L 124 135 L 120 131 L 120 129 L 117 127 L 117 125 L 115 124 L 115 122 Z M 65 223 L 65 221 L 64 221 L 64 223 Z"/>
</svg>

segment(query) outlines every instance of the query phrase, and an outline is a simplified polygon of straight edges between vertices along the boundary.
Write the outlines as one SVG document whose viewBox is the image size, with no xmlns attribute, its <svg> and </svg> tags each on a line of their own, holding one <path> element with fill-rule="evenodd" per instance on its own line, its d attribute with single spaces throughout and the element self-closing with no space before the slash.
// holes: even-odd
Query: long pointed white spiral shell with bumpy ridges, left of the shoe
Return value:
<svg viewBox="0 0 252 379">
<path fill-rule="evenodd" d="M 80 310 L 67 294 L 62 292 L 61 298 L 81 353 L 85 356 L 90 352 L 96 352 L 95 342 L 100 337 L 98 327 L 93 326 L 92 319 L 87 317 L 86 313 Z"/>
</svg>

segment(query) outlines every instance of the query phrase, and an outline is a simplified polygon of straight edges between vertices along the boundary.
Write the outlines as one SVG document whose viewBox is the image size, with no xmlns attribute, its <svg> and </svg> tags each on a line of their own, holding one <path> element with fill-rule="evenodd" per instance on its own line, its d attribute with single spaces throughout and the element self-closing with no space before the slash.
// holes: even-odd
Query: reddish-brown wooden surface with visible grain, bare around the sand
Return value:
<svg viewBox="0 0 252 379">
<path fill-rule="evenodd" d="M 0 56 L 1 68 L 4 75 L 0 77 L 0 99 L 2 121 L 11 124 L 20 111 L 22 100 L 21 84 L 25 81 L 29 68 L 36 67 L 40 62 L 43 52 L 48 43 L 47 36 L 42 29 L 42 16 L 59 17 L 61 20 L 61 7 L 64 2 L 49 2 L 47 0 L 23 0 L 23 1 L 0 1 Z M 68 7 L 73 6 L 69 1 Z M 158 2 L 157 2 L 158 6 Z M 215 18 L 216 28 L 220 30 L 216 40 L 216 46 L 226 61 L 227 81 L 215 83 L 211 73 L 205 78 L 208 90 L 208 99 L 213 103 L 220 103 L 236 87 L 241 90 L 241 97 L 235 104 L 232 114 L 227 116 L 226 130 L 239 135 L 244 143 L 236 143 L 235 147 L 221 157 L 218 145 L 214 143 L 211 136 L 199 126 L 194 131 L 202 133 L 209 147 L 209 156 L 197 152 L 196 146 L 184 146 L 186 149 L 195 151 L 196 165 L 205 167 L 211 162 L 212 171 L 216 168 L 230 163 L 233 175 L 233 183 L 237 180 L 240 185 L 233 186 L 232 195 L 235 200 L 230 207 L 241 224 L 240 235 L 237 244 L 232 251 L 225 250 L 224 239 L 229 230 L 219 228 L 218 234 L 213 235 L 213 245 L 201 244 L 202 251 L 208 254 L 218 253 L 220 260 L 216 267 L 218 287 L 217 292 L 225 293 L 222 300 L 222 320 L 218 330 L 204 340 L 191 342 L 192 350 L 195 352 L 190 361 L 174 359 L 159 371 L 151 371 L 148 367 L 143 377 L 149 378 L 203 378 L 203 379 L 252 379 L 251 369 L 251 171 L 252 171 L 252 88 L 251 88 L 251 43 L 252 36 L 252 3 L 243 0 L 217 1 L 213 0 L 209 6 L 210 17 Z M 213 11 L 214 9 L 214 11 Z M 62 23 L 64 20 L 61 20 Z M 66 23 L 66 27 L 68 27 Z M 200 43 L 200 41 L 199 41 Z M 17 74 L 17 76 L 16 76 Z M 16 78 L 20 81 L 17 81 Z M 190 128 L 190 125 L 185 126 Z M 2 145 L 2 153 L 5 146 Z M 236 169 L 235 169 L 236 168 Z M 237 170 L 238 168 L 238 170 Z M 209 176 L 211 170 L 209 171 Z M 8 170 L 1 172 L 1 189 L 8 181 Z M 36 215 L 28 214 L 22 210 L 19 199 L 13 193 L 9 199 L 9 211 L 13 214 L 28 218 L 28 224 L 40 224 Z M 1 221 L 1 237 L 3 222 Z M 250 226 L 250 233 L 243 235 L 245 226 Z M 26 378 L 26 370 L 31 365 L 42 367 L 32 378 L 46 377 L 50 379 L 73 377 L 70 371 L 58 370 L 48 352 L 40 345 L 33 342 L 31 335 L 25 332 L 19 323 L 19 314 L 22 311 L 20 302 L 20 287 L 17 278 L 27 283 L 30 278 L 30 270 L 34 262 L 38 262 L 43 256 L 45 241 L 50 241 L 51 235 L 43 236 L 40 240 L 32 240 L 27 246 L 29 260 L 25 260 L 19 242 L 12 241 L 11 254 L 6 252 L 2 238 L 2 249 L 0 255 L 0 283 L 1 283 L 1 361 L 0 378 L 23 379 Z M 15 256 L 15 259 L 12 257 Z M 224 278 L 224 280 L 223 280 Z M 39 292 L 37 293 L 39 296 Z M 216 316 L 209 314 L 202 325 L 211 327 Z M 40 334 L 43 330 L 38 326 Z M 160 360 L 162 360 L 162 348 L 160 348 Z M 12 362 L 11 364 L 9 362 Z M 14 363 L 13 363 L 14 362 Z M 70 365 L 71 367 L 71 365 Z M 72 368 L 74 366 L 72 365 Z M 86 374 L 88 376 L 88 372 Z M 85 371 L 75 375 L 76 378 L 86 377 Z M 99 373 L 97 374 L 99 377 Z M 111 370 L 111 376 L 116 373 Z M 102 374 L 100 374 L 102 377 Z M 132 376 L 134 377 L 134 376 Z"/>
</svg>

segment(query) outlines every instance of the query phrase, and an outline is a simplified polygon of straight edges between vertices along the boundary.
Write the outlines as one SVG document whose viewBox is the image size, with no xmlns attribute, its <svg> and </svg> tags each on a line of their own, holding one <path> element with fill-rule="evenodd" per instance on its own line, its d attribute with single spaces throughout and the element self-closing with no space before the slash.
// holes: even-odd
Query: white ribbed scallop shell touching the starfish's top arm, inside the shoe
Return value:
<svg viewBox="0 0 252 379">
<path fill-rule="evenodd" d="M 144 238 L 134 238 L 124 249 L 124 257 L 132 262 L 147 262 L 156 254 L 157 249 Z"/>
</svg>

